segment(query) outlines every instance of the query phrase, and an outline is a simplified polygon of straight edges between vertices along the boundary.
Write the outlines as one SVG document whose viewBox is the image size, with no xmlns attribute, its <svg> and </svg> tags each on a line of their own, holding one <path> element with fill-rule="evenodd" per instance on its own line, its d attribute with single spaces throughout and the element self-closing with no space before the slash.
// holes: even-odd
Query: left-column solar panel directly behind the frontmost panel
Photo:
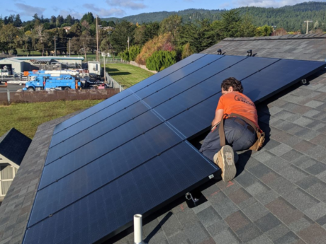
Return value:
<svg viewBox="0 0 326 244">
<path fill-rule="evenodd" d="M 73 171 L 38 192 L 34 204 L 38 211 L 32 214 L 29 224 L 33 225 L 45 219 L 49 213 L 55 213 L 99 187 L 116 180 L 181 141 L 181 137 L 172 132 L 166 124 L 160 124 L 133 141 L 96 159 L 93 163 Z M 53 174 L 56 173 L 56 171 L 53 172 Z M 76 181 L 76 179 L 86 180 Z M 73 191 L 66 191 L 67 189 L 73 189 Z M 60 194 L 60 199 L 57 198 L 58 194 Z"/>
</svg>

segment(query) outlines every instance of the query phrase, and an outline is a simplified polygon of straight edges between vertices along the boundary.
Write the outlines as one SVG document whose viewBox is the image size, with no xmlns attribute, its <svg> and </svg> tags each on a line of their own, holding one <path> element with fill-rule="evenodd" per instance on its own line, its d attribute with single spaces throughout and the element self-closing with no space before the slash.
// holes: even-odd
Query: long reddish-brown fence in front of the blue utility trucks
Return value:
<svg viewBox="0 0 326 244">
<path fill-rule="evenodd" d="M 33 92 L 8 91 L 7 93 L 0 93 L 0 103 L 38 103 L 56 100 L 97 100 L 110 98 L 119 92 L 119 88 Z"/>
</svg>

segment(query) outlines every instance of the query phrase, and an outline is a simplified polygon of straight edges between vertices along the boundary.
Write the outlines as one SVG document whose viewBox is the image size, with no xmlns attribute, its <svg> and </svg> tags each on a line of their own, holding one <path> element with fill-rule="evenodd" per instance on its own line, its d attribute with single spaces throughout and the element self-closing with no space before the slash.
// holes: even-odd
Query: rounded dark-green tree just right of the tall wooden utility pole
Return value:
<svg viewBox="0 0 326 244">
<path fill-rule="evenodd" d="M 128 37 L 129 37 L 129 45 L 133 45 L 134 40 L 133 36 L 135 33 L 135 25 L 128 21 L 121 21 L 116 24 L 116 29 L 111 34 L 111 42 L 113 47 L 115 47 L 116 51 L 122 52 L 128 47 Z M 130 38 L 131 37 L 131 38 Z"/>
</svg>

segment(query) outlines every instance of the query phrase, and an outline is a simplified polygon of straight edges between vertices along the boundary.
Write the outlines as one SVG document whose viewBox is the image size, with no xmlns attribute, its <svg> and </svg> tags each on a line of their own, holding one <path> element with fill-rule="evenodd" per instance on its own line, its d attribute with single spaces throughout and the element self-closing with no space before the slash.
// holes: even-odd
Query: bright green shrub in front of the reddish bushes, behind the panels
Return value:
<svg viewBox="0 0 326 244">
<path fill-rule="evenodd" d="M 150 70 L 161 71 L 176 63 L 176 51 L 157 51 L 146 59 L 146 67 Z"/>
</svg>

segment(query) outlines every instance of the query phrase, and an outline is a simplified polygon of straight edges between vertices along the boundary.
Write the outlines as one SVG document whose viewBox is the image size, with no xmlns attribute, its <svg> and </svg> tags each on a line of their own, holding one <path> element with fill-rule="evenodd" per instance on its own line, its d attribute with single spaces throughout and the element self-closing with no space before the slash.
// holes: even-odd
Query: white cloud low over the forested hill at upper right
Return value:
<svg viewBox="0 0 326 244">
<path fill-rule="evenodd" d="M 235 6 L 255 6 L 255 7 L 273 7 L 279 8 L 286 5 L 295 5 L 303 3 L 307 0 L 235 0 L 233 4 Z M 318 0 L 317 0 L 318 1 Z"/>
</svg>

